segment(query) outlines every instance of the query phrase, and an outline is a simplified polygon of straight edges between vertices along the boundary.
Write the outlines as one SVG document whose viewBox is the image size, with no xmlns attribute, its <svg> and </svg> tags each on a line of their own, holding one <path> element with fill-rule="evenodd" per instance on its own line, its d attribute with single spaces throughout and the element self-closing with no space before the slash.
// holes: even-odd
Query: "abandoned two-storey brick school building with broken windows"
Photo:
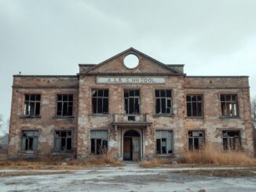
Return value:
<svg viewBox="0 0 256 192">
<path fill-rule="evenodd" d="M 130 48 L 79 64 L 77 75 L 14 75 L 9 158 L 137 161 L 205 144 L 254 154 L 248 77 L 188 76 L 183 67 Z"/>
</svg>

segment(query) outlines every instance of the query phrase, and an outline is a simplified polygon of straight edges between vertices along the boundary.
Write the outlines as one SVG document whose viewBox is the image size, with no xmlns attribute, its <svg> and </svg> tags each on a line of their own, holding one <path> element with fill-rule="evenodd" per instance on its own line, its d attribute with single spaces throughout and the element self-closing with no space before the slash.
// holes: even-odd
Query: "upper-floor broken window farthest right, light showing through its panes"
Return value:
<svg viewBox="0 0 256 192">
<path fill-rule="evenodd" d="M 237 95 L 221 95 L 221 114 L 225 117 L 238 117 Z"/>
</svg>

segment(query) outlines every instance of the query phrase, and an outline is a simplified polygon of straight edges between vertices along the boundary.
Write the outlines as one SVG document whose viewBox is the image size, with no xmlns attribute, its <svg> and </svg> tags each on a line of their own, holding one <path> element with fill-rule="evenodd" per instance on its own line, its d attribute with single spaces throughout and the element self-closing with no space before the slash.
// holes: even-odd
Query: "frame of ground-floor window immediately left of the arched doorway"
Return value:
<svg viewBox="0 0 256 192">
<path fill-rule="evenodd" d="M 92 132 L 95 132 L 95 137 L 92 137 Z M 101 137 L 97 137 L 97 132 L 101 132 Z M 107 137 L 104 138 L 102 136 L 102 132 L 106 132 L 107 133 Z M 92 151 L 92 139 L 94 139 L 94 152 Z M 101 139 L 101 147 L 103 147 L 103 143 L 104 141 L 107 141 L 107 145 L 105 147 L 105 150 L 106 151 L 102 151 L 102 150 L 97 150 L 97 140 L 100 140 Z M 90 154 L 93 154 L 93 155 L 103 155 L 105 152 L 106 154 L 108 153 L 108 147 L 109 147 L 109 132 L 108 132 L 108 129 L 91 129 L 90 130 Z M 98 153 L 98 151 L 100 151 Z"/>
</svg>

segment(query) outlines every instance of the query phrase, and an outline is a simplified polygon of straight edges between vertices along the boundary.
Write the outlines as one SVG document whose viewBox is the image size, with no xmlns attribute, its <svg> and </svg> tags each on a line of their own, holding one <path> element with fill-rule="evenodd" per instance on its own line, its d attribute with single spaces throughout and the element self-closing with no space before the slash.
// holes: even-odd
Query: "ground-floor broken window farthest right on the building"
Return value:
<svg viewBox="0 0 256 192">
<path fill-rule="evenodd" d="M 240 150 L 240 131 L 222 131 L 223 150 Z"/>
</svg>

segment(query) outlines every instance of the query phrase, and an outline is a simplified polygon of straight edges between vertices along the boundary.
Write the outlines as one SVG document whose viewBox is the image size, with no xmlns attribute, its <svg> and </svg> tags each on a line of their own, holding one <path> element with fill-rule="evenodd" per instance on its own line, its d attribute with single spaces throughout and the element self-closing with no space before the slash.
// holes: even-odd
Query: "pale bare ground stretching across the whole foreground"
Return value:
<svg viewBox="0 0 256 192">
<path fill-rule="evenodd" d="M 63 172 L 62 172 L 63 171 Z M 80 170 L 1 170 L 1 191 L 256 191 L 256 168 L 88 167 Z M 20 176 L 24 174 L 33 176 Z M 45 175 L 47 174 L 47 175 Z"/>
</svg>

